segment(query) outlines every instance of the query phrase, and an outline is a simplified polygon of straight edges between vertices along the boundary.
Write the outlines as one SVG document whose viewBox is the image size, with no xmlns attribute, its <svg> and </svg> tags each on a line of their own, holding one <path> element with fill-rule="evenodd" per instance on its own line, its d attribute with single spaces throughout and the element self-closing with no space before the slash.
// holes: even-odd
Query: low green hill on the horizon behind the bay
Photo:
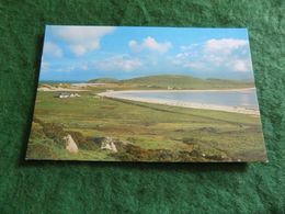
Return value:
<svg viewBox="0 0 285 214">
<path fill-rule="evenodd" d="M 119 83 L 135 88 L 149 89 L 233 89 L 254 87 L 251 81 L 224 80 L 224 79 L 200 79 L 184 75 L 157 75 L 146 76 L 126 80 L 112 78 L 93 79 L 93 83 Z"/>
</svg>

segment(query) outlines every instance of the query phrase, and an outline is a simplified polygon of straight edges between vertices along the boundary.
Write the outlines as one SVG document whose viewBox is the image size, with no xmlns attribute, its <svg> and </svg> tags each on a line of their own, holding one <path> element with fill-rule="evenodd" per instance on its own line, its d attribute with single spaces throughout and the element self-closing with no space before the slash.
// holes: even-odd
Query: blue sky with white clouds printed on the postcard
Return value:
<svg viewBox="0 0 285 214">
<path fill-rule="evenodd" d="M 163 74 L 252 79 L 247 30 L 46 26 L 39 80 Z"/>
</svg>

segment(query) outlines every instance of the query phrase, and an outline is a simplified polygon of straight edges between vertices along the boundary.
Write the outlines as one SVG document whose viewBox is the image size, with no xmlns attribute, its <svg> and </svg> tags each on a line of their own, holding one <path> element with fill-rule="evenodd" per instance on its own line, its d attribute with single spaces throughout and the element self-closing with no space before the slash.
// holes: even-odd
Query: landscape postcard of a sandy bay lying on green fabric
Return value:
<svg viewBox="0 0 285 214">
<path fill-rule="evenodd" d="M 26 159 L 266 161 L 248 30 L 47 25 Z"/>
</svg>

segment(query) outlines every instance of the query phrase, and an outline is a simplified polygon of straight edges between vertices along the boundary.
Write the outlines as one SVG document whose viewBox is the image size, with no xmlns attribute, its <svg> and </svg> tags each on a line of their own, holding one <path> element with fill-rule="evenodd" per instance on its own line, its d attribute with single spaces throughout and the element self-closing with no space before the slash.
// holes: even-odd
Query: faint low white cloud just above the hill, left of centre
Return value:
<svg viewBox="0 0 285 214">
<path fill-rule="evenodd" d="M 127 55 L 117 55 L 95 63 L 95 67 L 102 70 L 123 70 L 132 71 L 140 67 L 142 63 L 138 58 Z"/>
</svg>

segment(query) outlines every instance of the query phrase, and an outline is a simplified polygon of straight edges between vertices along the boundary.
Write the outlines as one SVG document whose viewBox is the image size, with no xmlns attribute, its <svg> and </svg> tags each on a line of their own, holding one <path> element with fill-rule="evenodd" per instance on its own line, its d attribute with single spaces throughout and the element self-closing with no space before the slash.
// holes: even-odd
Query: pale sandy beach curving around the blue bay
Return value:
<svg viewBox="0 0 285 214">
<path fill-rule="evenodd" d="M 191 91 L 191 92 L 202 92 L 202 91 L 247 91 L 253 88 L 248 89 L 227 89 L 227 90 L 175 90 L 178 91 Z M 174 90 L 164 90 L 163 92 L 171 92 Z M 102 92 L 98 93 L 100 97 L 106 98 L 116 98 L 122 100 L 130 100 L 130 101 L 138 101 L 138 102 L 146 102 L 146 103 L 157 103 L 157 104 L 167 104 L 167 105 L 174 105 L 174 106 L 183 106 L 183 108 L 191 108 L 191 109 L 203 109 L 203 110 L 216 110 L 216 111 L 224 111 L 224 112 L 232 112 L 232 113 L 241 113 L 241 114 L 252 114 L 252 115 L 260 115 L 259 110 L 253 109 L 246 109 L 240 106 L 225 106 L 225 105 L 214 105 L 214 104 L 203 104 L 203 103 L 192 103 L 192 102 L 184 102 L 184 101 L 171 101 L 164 99 L 147 99 L 147 98 L 136 98 L 136 97 L 122 97 L 119 93 L 122 92 L 146 92 L 146 90 L 139 91 L 110 91 L 110 92 Z M 147 92 L 162 92 L 162 90 L 147 90 Z"/>
</svg>

